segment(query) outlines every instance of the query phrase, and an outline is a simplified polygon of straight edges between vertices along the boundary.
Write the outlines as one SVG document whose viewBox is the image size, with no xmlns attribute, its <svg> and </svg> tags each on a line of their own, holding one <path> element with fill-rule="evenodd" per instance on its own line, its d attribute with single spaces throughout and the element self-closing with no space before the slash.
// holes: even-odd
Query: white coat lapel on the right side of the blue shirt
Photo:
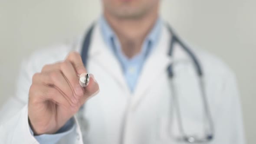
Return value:
<svg viewBox="0 0 256 144">
<path fill-rule="evenodd" d="M 131 106 L 133 108 L 147 95 L 148 89 L 154 88 L 154 85 L 159 84 L 158 77 L 166 74 L 167 65 L 171 63 L 171 57 L 167 55 L 169 42 L 170 33 L 168 33 L 165 26 L 162 26 L 160 41 L 154 49 L 152 49 L 138 78 L 134 96 L 131 100 Z"/>
</svg>

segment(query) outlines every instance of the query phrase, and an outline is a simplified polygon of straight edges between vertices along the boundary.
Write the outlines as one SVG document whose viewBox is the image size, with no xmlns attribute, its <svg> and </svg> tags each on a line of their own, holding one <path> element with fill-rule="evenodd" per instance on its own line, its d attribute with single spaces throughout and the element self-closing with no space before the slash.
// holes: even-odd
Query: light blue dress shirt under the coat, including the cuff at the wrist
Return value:
<svg viewBox="0 0 256 144">
<path fill-rule="evenodd" d="M 160 18 L 158 18 L 158 20 L 154 24 L 153 29 L 151 29 L 151 32 L 144 39 L 141 52 L 138 55 L 133 56 L 129 59 L 122 52 L 118 37 L 108 25 L 108 22 L 105 20 L 104 16 L 101 16 L 99 19 L 99 26 L 101 29 L 102 37 L 105 43 L 107 43 L 108 48 L 112 52 L 114 52 L 116 58 L 120 62 L 120 66 L 123 70 L 123 75 L 131 92 L 133 92 L 136 87 L 136 83 L 140 76 L 141 69 L 143 68 L 144 61 L 147 59 L 154 46 L 156 46 L 156 44 L 159 42 L 161 24 L 162 21 Z M 35 138 L 40 144 L 56 144 L 66 134 L 74 131 L 74 127 L 75 124 L 72 118 L 59 131 L 57 131 L 56 134 L 42 134 L 39 136 L 35 136 Z M 33 134 L 31 128 L 30 132 L 31 134 Z"/>
</svg>

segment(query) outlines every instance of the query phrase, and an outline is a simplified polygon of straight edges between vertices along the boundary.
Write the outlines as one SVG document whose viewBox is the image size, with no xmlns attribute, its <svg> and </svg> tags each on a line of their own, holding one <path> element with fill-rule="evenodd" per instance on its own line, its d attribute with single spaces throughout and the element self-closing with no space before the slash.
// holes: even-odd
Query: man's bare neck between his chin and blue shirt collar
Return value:
<svg viewBox="0 0 256 144">
<path fill-rule="evenodd" d="M 109 25 L 115 31 L 121 43 L 121 49 L 128 58 L 141 52 L 144 39 L 150 33 L 158 19 L 158 10 L 137 19 L 118 19 L 107 12 L 104 13 Z"/>
</svg>

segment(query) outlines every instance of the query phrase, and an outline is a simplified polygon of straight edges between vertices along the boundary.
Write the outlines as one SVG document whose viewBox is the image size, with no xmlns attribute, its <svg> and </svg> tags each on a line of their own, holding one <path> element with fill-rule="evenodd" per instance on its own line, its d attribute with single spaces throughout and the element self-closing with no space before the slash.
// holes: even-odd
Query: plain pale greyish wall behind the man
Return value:
<svg viewBox="0 0 256 144">
<path fill-rule="evenodd" d="M 100 13 L 101 0 L 0 0 L 0 105 L 14 94 L 22 59 L 82 34 Z M 256 143 L 255 14 L 255 0 L 162 0 L 161 6 L 184 39 L 236 72 L 248 144 Z"/>
</svg>

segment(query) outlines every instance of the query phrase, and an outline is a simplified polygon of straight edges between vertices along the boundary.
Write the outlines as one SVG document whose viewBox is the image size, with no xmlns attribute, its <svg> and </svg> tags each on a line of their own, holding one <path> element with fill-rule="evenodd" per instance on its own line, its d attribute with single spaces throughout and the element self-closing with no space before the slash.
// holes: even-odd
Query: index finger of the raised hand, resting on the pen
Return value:
<svg viewBox="0 0 256 144">
<path fill-rule="evenodd" d="M 78 52 L 70 52 L 66 60 L 72 63 L 78 75 L 87 73 L 87 70 L 82 62 L 82 58 Z"/>
</svg>

